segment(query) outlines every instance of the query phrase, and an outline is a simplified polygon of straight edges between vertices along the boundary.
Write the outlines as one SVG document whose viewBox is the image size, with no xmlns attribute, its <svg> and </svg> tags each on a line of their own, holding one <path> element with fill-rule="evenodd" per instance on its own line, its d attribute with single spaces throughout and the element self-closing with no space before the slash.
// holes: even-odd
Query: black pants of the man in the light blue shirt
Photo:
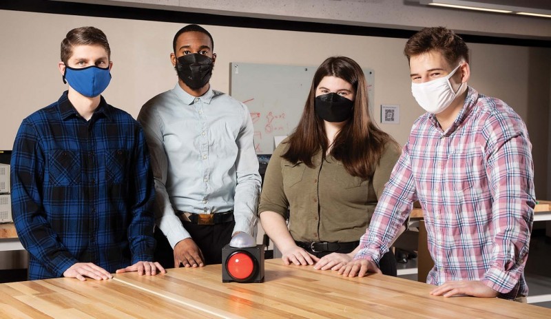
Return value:
<svg viewBox="0 0 551 319">
<path fill-rule="evenodd" d="M 201 249 L 205 257 L 205 265 L 222 263 L 222 247 L 229 244 L 235 221 L 216 225 L 197 225 L 183 222 L 184 228 L 191 235 L 196 245 Z M 154 237 L 157 240 L 155 260 L 165 268 L 174 268 L 174 251 L 167 238 L 158 227 L 155 228 Z"/>
</svg>

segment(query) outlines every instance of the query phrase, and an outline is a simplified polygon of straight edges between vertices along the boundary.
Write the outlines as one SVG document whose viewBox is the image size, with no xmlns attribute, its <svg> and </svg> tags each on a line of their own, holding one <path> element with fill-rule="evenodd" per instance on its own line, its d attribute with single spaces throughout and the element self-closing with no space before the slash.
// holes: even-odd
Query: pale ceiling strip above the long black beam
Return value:
<svg viewBox="0 0 551 319">
<path fill-rule="evenodd" d="M 69 0 L 53 0 L 69 1 Z M 74 0 L 114 6 L 178 10 L 238 17 L 315 21 L 419 30 L 443 25 L 459 33 L 551 41 L 551 19 L 435 8 L 419 0 Z M 550 10 L 551 0 L 486 0 Z"/>
</svg>

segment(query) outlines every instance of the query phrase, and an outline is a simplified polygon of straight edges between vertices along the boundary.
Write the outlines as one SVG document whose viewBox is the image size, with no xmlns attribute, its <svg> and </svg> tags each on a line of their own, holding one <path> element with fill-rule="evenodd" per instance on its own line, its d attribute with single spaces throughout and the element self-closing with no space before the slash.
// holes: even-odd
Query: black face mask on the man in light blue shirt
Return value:
<svg viewBox="0 0 551 319">
<path fill-rule="evenodd" d="M 213 66 L 209 56 L 193 53 L 180 56 L 175 68 L 185 85 L 191 90 L 198 90 L 209 83 Z"/>
</svg>

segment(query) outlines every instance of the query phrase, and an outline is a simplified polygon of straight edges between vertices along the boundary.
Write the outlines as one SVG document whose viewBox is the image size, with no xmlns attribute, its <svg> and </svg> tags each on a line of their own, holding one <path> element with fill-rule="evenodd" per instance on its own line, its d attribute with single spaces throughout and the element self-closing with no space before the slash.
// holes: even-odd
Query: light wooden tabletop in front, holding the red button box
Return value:
<svg viewBox="0 0 551 319">
<path fill-rule="evenodd" d="M 280 259 L 265 269 L 257 284 L 223 283 L 221 265 L 1 284 L 0 318 L 551 318 L 519 302 L 430 296 L 433 286 L 384 275 L 342 278 Z"/>
</svg>

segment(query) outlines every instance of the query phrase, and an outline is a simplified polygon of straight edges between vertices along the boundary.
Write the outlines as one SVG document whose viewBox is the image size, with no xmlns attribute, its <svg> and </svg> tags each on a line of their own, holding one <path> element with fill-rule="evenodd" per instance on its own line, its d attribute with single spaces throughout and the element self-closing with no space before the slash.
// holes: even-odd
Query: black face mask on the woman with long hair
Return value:
<svg viewBox="0 0 551 319">
<path fill-rule="evenodd" d="M 315 97 L 314 110 L 320 118 L 328 122 L 344 122 L 351 118 L 354 101 L 336 93 L 328 93 Z"/>
</svg>

